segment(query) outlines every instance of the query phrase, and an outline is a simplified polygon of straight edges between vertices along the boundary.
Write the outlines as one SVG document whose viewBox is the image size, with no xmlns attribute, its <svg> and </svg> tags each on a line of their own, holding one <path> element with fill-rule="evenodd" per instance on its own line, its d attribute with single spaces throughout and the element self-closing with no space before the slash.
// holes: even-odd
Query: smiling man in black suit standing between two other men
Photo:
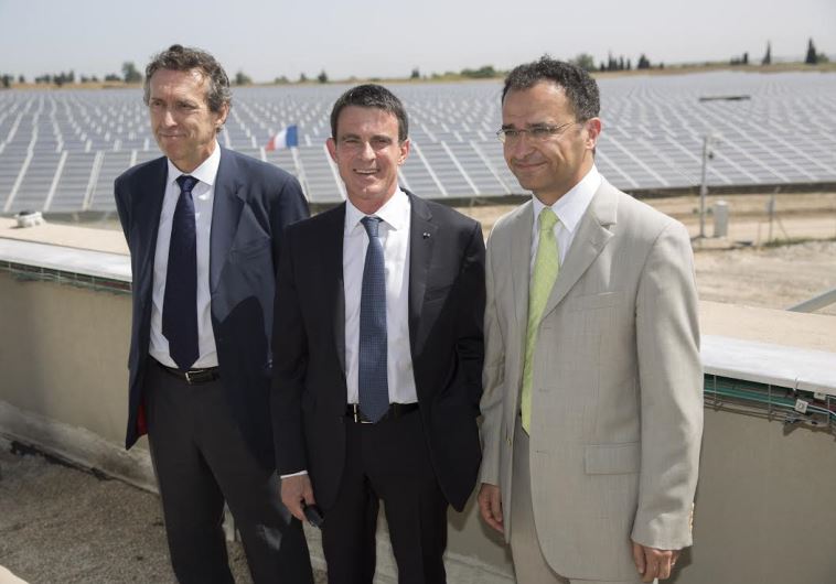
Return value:
<svg viewBox="0 0 836 584">
<path fill-rule="evenodd" d="M 398 187 L 407 117 L 384 87 L 343 94 L 331 132 L 347 202 L 288 228 L 279 263 L 282 501 L 321 507 L 331 584 L 372 582 L 381 501 L 398 581 L 444 582 L 447 507 L 480 463 L 482 231 Z"/>
</svg>

